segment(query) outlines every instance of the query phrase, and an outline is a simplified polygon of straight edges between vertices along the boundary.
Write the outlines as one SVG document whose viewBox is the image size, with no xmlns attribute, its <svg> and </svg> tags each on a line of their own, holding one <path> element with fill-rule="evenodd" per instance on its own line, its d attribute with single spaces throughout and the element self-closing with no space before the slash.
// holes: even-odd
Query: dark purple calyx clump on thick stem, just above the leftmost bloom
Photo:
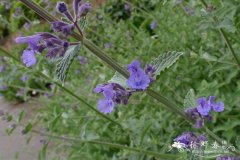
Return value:
<svg viewBox="0 0 240 160">
<path fill-rule="evenodd" d="M 72 33 L 74 29 L 74 25 L 65 23 L 63 21 L 55 21 L 55 22 L 52 22 L 52 29 L 55 32 L 62 32 L 63 35 L 67 37 L 69 34 Z"/>
</svg>

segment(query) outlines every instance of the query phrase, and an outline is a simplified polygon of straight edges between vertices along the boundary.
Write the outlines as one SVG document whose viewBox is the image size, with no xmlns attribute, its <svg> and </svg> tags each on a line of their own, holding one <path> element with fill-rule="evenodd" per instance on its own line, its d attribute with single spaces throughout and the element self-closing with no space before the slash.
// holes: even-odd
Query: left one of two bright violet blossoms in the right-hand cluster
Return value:
<svg viewBox="0 0 240 160">
<path fill-rule="evenodd" d="M 202 116 L 206 116 L 211 111 L 211 106 L 205 97 L 201 97 L 197 100 L 198 107 L 197 110 Z"/>
</svg>

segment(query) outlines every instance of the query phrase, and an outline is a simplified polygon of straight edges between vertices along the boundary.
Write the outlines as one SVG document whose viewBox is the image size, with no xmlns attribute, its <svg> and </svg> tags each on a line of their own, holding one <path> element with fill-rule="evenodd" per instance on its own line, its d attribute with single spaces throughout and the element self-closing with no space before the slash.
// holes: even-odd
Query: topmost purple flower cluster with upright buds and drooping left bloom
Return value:
<svg viewBox="0 0 240 160">
<path fill-rule="evenodd" d="M 25 49 L 22 54 L 22 61 L 27 67 L 35 65 L 37 62 L 35 56 L 36 53 L 41 53 L 45 49 L 48 50 L 46 55 L 46 57 L 48 58 L 57 58 L 63 56 L 69 45 L 72 45 L 66 40 L 67 36 L 72 33 L 75 26 L 78 27 L 77 21 L 82 16 L 87 15 L 89 10 L 91 9 L 91 4 L 82 3 L 81 0 L 74 0 L 73 9 L 75 19 L 73 19 L 73 16 L 69 12 L 68 7 L 64 2 L 58 2 L 56 9 L 58 12 L 63 14 L 69 20 L 69 22 L 63 21 L 52 22 L 53 31 L 61 32 L 62 35 L 64 36 L 64 39 L 60 39 L 59 37 L 47 32 L 37 33 L 35 35 L 27 37 L 18 37 L 15 39 L 16 43 L 29 44 L 29 47 Z"/>
</svg>

